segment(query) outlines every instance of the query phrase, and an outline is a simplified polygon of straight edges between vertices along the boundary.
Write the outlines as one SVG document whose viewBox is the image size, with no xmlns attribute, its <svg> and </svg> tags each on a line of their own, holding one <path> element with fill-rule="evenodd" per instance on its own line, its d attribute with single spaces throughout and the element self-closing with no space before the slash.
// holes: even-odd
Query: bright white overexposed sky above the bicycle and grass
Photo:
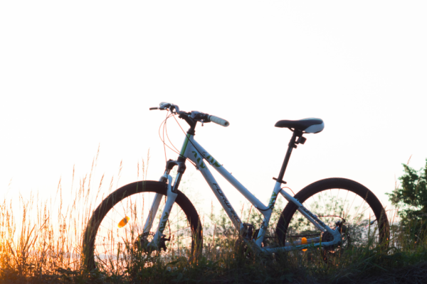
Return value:
<svg viewBox="0 0 427 284">
<path fill-rule="evenodd" d="M 148 149 L 158 180 L 166 113 L 149 107 L 172 102 L 230 121 L 196 140 L 263 202 L 291 136 L 275 122 L 318 117 L 288 185 L 350 178 L 386 204 L 401 163 L 427 158 L 426 13 L 426 1 L 1 1 L 1 191 L 49 197 L 60 177 L 70 189 L 98 145 L 96 185 L 121 160 L 117 186 L 137 180 Z M 184 139 L 174 120 L 169 138 Z M 199 173 L 188 184 L 210 203 Z"/>
</svg>

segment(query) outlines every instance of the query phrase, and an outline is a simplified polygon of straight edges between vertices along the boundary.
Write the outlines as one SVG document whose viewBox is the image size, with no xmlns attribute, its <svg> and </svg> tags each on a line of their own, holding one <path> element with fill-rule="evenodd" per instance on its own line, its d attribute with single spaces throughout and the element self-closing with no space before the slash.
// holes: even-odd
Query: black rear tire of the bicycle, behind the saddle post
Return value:
<svg viewBox="0 0 427 284">
<path fill-rule="evenodd" d="M 364 185 L 361 185 L 359 182 L 355 182 L 354 180 L 348 180 L 345 178 L 327 178 L 325 180 L 318 180 L 317 182 L 313 182 L 310 185 L 307 185 L 307 187 L 303 188 L 302 190 L 300 190 L 300 192 L 297 192 L 297 194 L 294 196 L 295 199 L 297 199 L 301 204 L 303 204 L 307 209 L 310 210 L 310 212 L 312 212 L 313 214 L 317 215 L 317 217 L 322 220 L 322 222 L 324 222 L 325 224 L 327 224 L 328 222 L 330 224 L 327 224 L 329 226 L 331 226 L 331 218 L 329 216 L 329 219 L 327 219 L 325 216 L 320 217 L 319 212 L 316 212 L 316 210 L 312 210 L 310 209 L 308 206 L 306 206 L 307 204 L 307 200 L 310 199 L 310 197 L 313 197 L 313 200 L 316 200 L 314 196 L 316 196 L 317 194 L 321 194 L 321 195 L 317 195 L 320 199 L 320 196 L 324 197 L 323 192 L 328 193 L 327 191 L 331 192 L 331 196 L 332 196 L 332 190 L 334 190 L 334 192 L 337 192 L 338 190 L 338 195 L 339 195 L 339 190 L 342 191 L 346 191 L 347 190 L 347 195 L 348 192 L 352 192 L 355 196 L 358 196 L 357 199 L 358 200 L 362 200 L 362 202 L 366 202 L 369 207 L 371 208 L 371 212 L 374 213 L 376 220 L 371 221 L 371 219 L 369 219 L 369 230 L 371 230 L 371 232 L 377 234 L 377 236 L 375 236 L 374 238 L 371 238 L 371 236 L 369 236 L 369 231 L 368 233 L 362 232 L 359 230 L 359 232 L 357 234 L 360 234 L 360 236 L 363 236 L 363 234 L 367 234 L 367 236 L 365 237 L 366 240 L 364 239 L 359 239 L 356 241 L 355 244 L 367 244 L 367 243 L 363 243 L 363 241 L 367 241 L 369 238 L 371 238 L 371 243 L 370 246 L 373 245 L 378 245 L 378 244 L 383 244 L 385 246 L 388 246 L 388 239 L 389 239 L 389 221 L 386 217 L 386 212 L 384 210 L 384 208 L 381 205 L 381 202 L 379 202 L 378 198 L 374 195 L 374 193 L 372 193 L 369 189 L 367 189 L 367 187 L 364 187 Z M 346 197 L 347 199 L 347 197 Z M 332 203 L 334 202 L 334 198 L 332 196 Z M 335 199 L 338 202 L 338 197 Z M 324 200 L 325 201 L 325 200 Z M 315 201 L 316 202 L 316 201 Z M 353 200 L 354 202 L 354 200 Z M 319 204 L 316 204 L 315 207 L 317 206 L 317 209 L 319 209 L 318 206 Z M 352 205 L 350 205 L 349 209 L 351 208 Z M 327 205 L 325 204 L 325 208 L 327 208 Z M 337 208 L 337 204 L 334 205 L 334 208 Z M 341 208 L 341 207 L 339 207 Z M 344 207 L 343 207 L 344 208 Z M 356 208 L 356 207 L 355 207 Z M 316 209 L 316 208 L 315 208 Z M 335 211 L 334 209 L 334 211 Z M 359 207 L 360 209 L 360 207 Z M 359 211 L 359 209 L 357 209 L 357 211 Z M 364 210 L 364 212 L 367 211 L 367 209 L 362 209 Z M 363 212 L 363 213 L 364 213 Z M 337 214 L 339 212 L 334 212 L 333 214 Z M 292 202 L 288 202 L 288 204 L 286 205 L 285 209 L 283 209 L 282 214 L 280 215 L 278 224 L 276 226 L 276 236 L 278 238 L 278 242 L 280 245 L 285 245 L 286 241 L 288 239 L 288 241 L 291 241 L 291 239 L 295 238 L 295 237 L 300 237 L 300 239 L 302 239 L 302 235 L 293 235 L 291 234 L 289 229 L 289 226 L 291 224 L 295 224 L 295 220 L 297 221 L 301 221 L 301 219 L 295 219 L 297 218 L 297 214 L 300 214 L 300 212 L 297 212 L 297 205 L 295 205 Z M 344 210 L 341 210 L 342 216 L 340 216 L 340 218 L 344 218 L 345 216 L 345 212 Z M 347 216 L 349 215 L 349 213 L 347 212 Z M 302 214 L 301 214 L 302 216 Z M 338 215 L 335 215 L 336 217 Z M 356 212 L 356 214 L 353 217 L 353 220 L 356 219 L 357 222 L 359 222 L 359 220 L 361 220 L 362 218 L 358 217 L 358 213 Z M 345 218 L 344 218 L 345 219 Z M 373 219 L 373 217 L 372 217 Z M 307 219 L 305 219 L 307 220 Z M 308 220 L 307 220 L 308 221 Z M 348 222 L 349 220 L 347 219 L 346 222 Z M 293 223 L 292 223 L 293 222 Z M 350 221 L 351 222 L 351 221 Z M 371 223 L 374 222 L 376 223 L 376 228 L 372 227 L 371 228 Z M 307 222 L 309 224 L 311 224 L 310 222 Z M 354 222 L 356 223 L 356 222 Z M 357 228 L 358 226 L 365 226 L 365 224 L 367 224 L 366 219 L 360 221 L 360 224 L 348 224 L 347 226 L 349 228 Z M 314 227 L 314 226 L 313 226 Z M 331 226 L 332 227 L 332 226 Z M 365 227 L 366 230 L 367 227 Z M 289 231 L 288 231 L 289 229 Z M 363 230 L 363 227 L 362 227 Z M 295 230 L 294 230 L 295 231 Z M 305 232 L 307 234 L 307 231 L 310 231 L 310 229 L 305 229 Z M 348 233 L 348 237 L 349 237 L 349 241 L 348 244 L 351 243 L 351 230 L 348 229 L 347 231 L 349 231 Z M 357 229 L 353 229 L 354 232 L 357 232 Z M 294 233 L 295 234 L 295 233 Z M 297 233 L 298 234 L 298 233 Z M 323 235 L 325 236 L 325 235 Z M 322 239 L 323 239 L 322 236 Z M 347 237 L 347 235 L 345 236 Z M 375 239 L 376 238 L 376 239 Z M 374 241 L 372 241 L 374 240 Z M 324 240 L 325 241 L 325 240 Z M 343 246 L 344 241 L 342 242 L 341 246 Z M 354 245 L 354 244 L 353 244 Z M 337 249 L 337 246 L 335 246 L 335 249 Z M 325 248 L 324 248 L 325 250 Z M 333 248 L 331 249 L 332 251 L 334 250 Z"/>
</svg>

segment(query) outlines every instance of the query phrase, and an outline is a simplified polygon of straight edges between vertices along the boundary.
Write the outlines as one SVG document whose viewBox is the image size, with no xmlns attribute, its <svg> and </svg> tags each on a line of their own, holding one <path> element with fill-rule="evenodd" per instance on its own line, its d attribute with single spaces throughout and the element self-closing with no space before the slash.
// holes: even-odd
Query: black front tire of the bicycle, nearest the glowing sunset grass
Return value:
<svg viewBox="0 0 427 284">
<path fill-rule="evenodd" d="M 95 209 L 95 211 L 92 214 L 92 217 L 90 217 L 88 225 L 86 226 L 85 233 L 83 234 L 83 263 L 89 271 L 92 271 L 95 268 L 99 269 L 100 268 L 99 266 L 101 265 L 100 263 L 97 263 L 97 259 L 99 259 L 101 256 L 101 254 L 97 255 L 97 253 L 99 253 L 97 250 L 97 246 L 98 246 L 97 237 L 98 239 L 101 239 L 101 237 L 97 234 L 99 233 L 100 228 L 101 229 L 103 228 L 101 224 L 104 219 L 107 219 L 106 217 L 107 214 L 109 212 L 113 212 L 113 209 L 115 208 L 115 206 L 123 202 L 123 200 L 127 200 L 127 198 L 130 198 L 130 197 L 138 198 L 139 195 L 147 194 L 147 193 L 148 194 L 158 193 L 160 195 L 166 196 L 167 184 L 164 182 L 157 182 L 157 181 L 132 182 L 128 185 L 120 187 L 119 189 L 115 190 L 115 192 L 112 192 L 110 195 L 108 195 L 105 198 L 105 200 L 103 200 L 100 203 L 97 209 Z M 191 229 L 191 232 L 189 233 L 190 235 L 189 237 L 191 237 L 191 252 L 189 253 L 190 254 L 189 257 L 193 257 L 193 256 L 196 256 L 198 253 L 200 253 L 201 248 L 203 247 L 202 227 L 199 219 L 199 214 L 197 214 L 193 204 L 191 204 L 190 200 L 184 195 L 184 193 L 178 190 L 177 194 L 178 196 L 176 197 L 173 207 L 176 207 L 176 205 L 178 205 L 179 209 L 181 209 L 184 212 L 185 218 L 189 223 L 189 227 L 187 227 Z M 132 206 L 135 204 L 132 204 Z M 161 207 L 159 207 L 159 210 L 160 209 Z M 114 209 L 114 210 L 117 211 L 117 209 Z M 170 217 L 171 216 L 169 216 L 169 220 L 171 219 Z M 142 219 L 145 222 L 145 219 L 144 218 Z M 115 220 L 112 220 L 112 222 L 110 223 L 117 224 L 118 221 L 119 219 L 115 219 Z M 170 225 L 169 225 L 169 229 L 170 229 Z M 132 233 L 132 236 L 133 236 L 133 233 Z M 111 244 L 115 244 L 115 243 L 111 242 Z M 102 244 L 102 245 L 105 246 L 105 244 Z M 112 252 L 113 251 L 111 251 L 111 253 Z M 107 254 L 104 254 L 104 256 L 106 255 Z"/>
</svg>

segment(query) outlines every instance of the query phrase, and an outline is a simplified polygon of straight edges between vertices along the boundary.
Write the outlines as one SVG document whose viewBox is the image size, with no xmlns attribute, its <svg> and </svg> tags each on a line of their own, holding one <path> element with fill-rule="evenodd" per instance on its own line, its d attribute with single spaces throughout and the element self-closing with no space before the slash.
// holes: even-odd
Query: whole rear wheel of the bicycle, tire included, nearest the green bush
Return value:
<svg viewBox="0 0 427 284">
<path fill-rule="evenodd" d="M 389 221 L 378 198 L 367 187 L 353 180 L 328 178 L 308 185 L 294 196 L 305 208 L 332 229 L 342 234 L 341 244 L 323 248 L 337 254 L 348 247 L 388 244 Z M 338 224 L 338 225 L 337 225 Z M 289 202 L 283 209 L 276 227 L 280 244 L 321 237 L 332 241 L 330 233 L 321 234 L 311 222 Z"/>
</svg>

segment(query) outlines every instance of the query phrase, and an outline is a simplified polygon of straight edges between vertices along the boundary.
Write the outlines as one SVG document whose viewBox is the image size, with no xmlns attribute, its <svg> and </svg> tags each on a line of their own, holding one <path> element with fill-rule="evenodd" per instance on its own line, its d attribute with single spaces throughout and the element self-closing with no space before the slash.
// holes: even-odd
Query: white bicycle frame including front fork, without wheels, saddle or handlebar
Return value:
<svg viewBox="0 0 427 284">
<path fill-rule="evenodd" d="M 231 219 L 231 222 L 233 223 L 233 226 L 239 231 L 243 231 L 243 223 L 241 222 L 241 219 L 238 217 L 236 211 L 231 206 L 230 202 L 228 202 L 228 199 L 224 192 L 221 190 L 221 187 L 219 187 L 218 182 L 216 182 L 214 176 L 211 174 L 209 168 L 206 166 L 205 161 L 209 163 L 209 165 L 212 166 L 218 173 L 220 173 L 228 182 L 233 185 L 233 187 L 236 188 L 241 194 L 246 197 L 246 199 L 253 204 L 253 206 L 258 209 L 258 211 L 263 214 L 263 222 L 260 225 L 260 230 L 258 232 L 258 236 L 256 239 L 253 239 L 251 241 L 246 240 L 247 242 L 251 242 L 255 246 L 256 249 L 259 251 L 263 251 L 264 253 L 274 253 L 277 251 L 292 251 L 296 249 L 307 249 L 308 247 L 317 247 L 317 246 L 332 246 L 334 244 L 338 244 L 341 241 L 341 234 L 339 233 L 339 230 L 333 230 L 329 226 L 327 226 L 325 223 L 320 221 L 320 219 L 317 218 L 315 214 L 312 214 L 307 208 L 302 206 L 302 204 L 296 200 L 294 197 L 289 195 L 287 192 L 282 190 L 281 183 L 276 182 L 275 187 L 273 189 L 273 193 L 270 197 L 270 202 L 268 202 L 268 205 L 263 204 L 260 202 L 255 196 L 249 192 L 246 187 L 244 187 L 241 182 L 236 180 L 236 178 L 231 175 L 231 173 L 228 173 L 228 171 L 221 165 L 221 163 L 218 163 L 217 160 L 212 157 L 211 154 L 208 153 L 197 141 L 194 140 L 194 135 L 187 134 L 186 138 L 184 140 L 184 144 L 181 148 L 181 153 L 179 154 L 181 157 L 189 158 L 192 160 L 196 165 L 197 169 L 200 170 L 201 174 L 203 175 L 206 182 L 208 182 L 209 187 L 211 187 L 211 190 L 214 192 L 216 198 L 218 198 L 218 201 L 221 203 L 223 209 L 226 211 L 226 214 Z M 175 178 L 176 180 L 181 179 L 181 174 L 178 173 Z M 167 218 L 169 217 L 169 212 L 171 212 L 172 205 L 175 202 L 177 194 L 172 192 L 172 177 L 165 173 L 162 178 L 160 178 L 161 181 L 168 181 L 168 190 L 167 190 L 167 202 L 165 204 L 164 211 L 162 213 L 161 222 L 159 223 L 159 226 L 157 227 L 156 233 L 154 234 L 154 238 L 151 241 L 150 245 L 157 247 L 158 240 L 163 235 L 164 226 L 167 222 Z M 334 236 L 334 239 L 332 241 L 328 242 L 322 242 L 320 237 L 307 239 L 307 244 L 302 244 L 301 241 L 294 241 L 292 243 L 287 242 L 285 246 L 282 247 L 268 247 L 264 246 L 262 247 L 263 239 L 265 236 L 265 231 L 268 227 L 268 222 L 270 221 L 271 214 L 273 212 L 273 208 L 275 205 L 275 202 L 277 200 L 277 197 L 279 195 L 283 195 L 288 202 L 293 202 L 297 205 L 297 210 L 305 217 L 307 218 L 314 226 L 317 227 L 322 232 L 329 232 Z M 147 217 L 147 221 L 144 225 L 144 233 L 147 233 L 153 223 L 154 216 L 157 212 L 157 209 L 159 208 L 161 197 L 157 194 L 156 197 L 154 197 L 154 201 L 152 203 L 152 207 L 150 207 L 149 216 Z"/>
</svg>

